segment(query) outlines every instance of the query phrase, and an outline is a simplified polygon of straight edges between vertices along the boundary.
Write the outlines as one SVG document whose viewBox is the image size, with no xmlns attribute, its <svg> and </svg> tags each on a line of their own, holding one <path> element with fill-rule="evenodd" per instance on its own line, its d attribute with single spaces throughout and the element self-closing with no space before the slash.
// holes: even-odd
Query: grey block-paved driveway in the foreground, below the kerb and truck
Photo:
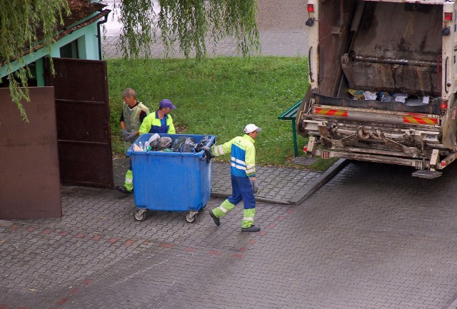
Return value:
<svg viewBox="0 0 457 309">
<path fill-rule="evenodd" d="M 0 221 L 0 308 L 448 308 L 456 172 L 351 163 L 300 206 L 258 202 L 260 233 L 241 205 L 137 222 L 134 196 L 64 186 L 63 218 Z"/>
</svg>

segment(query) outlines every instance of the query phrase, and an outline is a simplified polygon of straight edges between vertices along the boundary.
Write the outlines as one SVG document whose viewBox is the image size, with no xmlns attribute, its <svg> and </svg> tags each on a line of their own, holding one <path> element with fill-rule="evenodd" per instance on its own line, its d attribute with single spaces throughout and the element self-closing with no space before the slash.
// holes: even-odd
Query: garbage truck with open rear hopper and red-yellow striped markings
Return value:
<svg viewBox="0 0 457 309">
<path fill-rule="evenodd" d="M 456 1 L 308 0 L 308 156 L 413 166 L 457 158 Z"/>
</svg>

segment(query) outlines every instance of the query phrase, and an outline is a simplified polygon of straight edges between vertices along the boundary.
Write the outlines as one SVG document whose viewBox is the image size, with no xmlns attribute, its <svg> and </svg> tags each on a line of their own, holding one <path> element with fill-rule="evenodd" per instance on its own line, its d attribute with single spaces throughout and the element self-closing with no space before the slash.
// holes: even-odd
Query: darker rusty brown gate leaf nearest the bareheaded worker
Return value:
<svg viewBox="0 0 457 309">
<path fill-rule="evenodd" d="M 61 183 L 114 186 L 105 61 L 53 58 L 46 86 L 54 86 Z"/>
</svg>

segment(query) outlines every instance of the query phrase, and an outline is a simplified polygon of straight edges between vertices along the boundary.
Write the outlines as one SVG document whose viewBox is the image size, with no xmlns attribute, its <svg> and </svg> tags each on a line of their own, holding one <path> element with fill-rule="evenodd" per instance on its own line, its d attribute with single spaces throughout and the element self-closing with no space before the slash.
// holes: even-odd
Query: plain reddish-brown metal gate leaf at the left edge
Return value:
<svg viewBox="0 0 457 309">
<path fill-rule="evenodd" d="M 0 219 L 62 216 L 54 89 L 31 87 L 29 98 L 26 122 L 0 88 Z"/>
</svg>

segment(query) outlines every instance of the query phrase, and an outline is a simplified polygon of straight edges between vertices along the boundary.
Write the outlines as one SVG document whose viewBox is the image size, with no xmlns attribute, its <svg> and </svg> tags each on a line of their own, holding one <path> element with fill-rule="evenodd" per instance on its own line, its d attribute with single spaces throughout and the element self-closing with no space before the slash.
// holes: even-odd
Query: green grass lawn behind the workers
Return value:
<svg viewBox="0 0 457 309">
<path fill-rule="evenodd" d="M 291 121 L 278 116 L 303 98 L 308 59 L 303 57 L 221 57 L 204 59 L 109 59 L 109 101 L 113 151 L 124 154 L 119 117 L 122 91 L 134 88 L 151 111 L 169 98 L 178 133 L 215 135 L 225 143 L 243 134 L 247 123 L 263 128 L 256 139 L 256 164 L 294 166 Z M 306 138 L 298 136 L 298 153 Z M 229 161 L 229 156 L 216 158 Z M 331 161 L 306 168 L 324 171 Z"/>
</svg>

